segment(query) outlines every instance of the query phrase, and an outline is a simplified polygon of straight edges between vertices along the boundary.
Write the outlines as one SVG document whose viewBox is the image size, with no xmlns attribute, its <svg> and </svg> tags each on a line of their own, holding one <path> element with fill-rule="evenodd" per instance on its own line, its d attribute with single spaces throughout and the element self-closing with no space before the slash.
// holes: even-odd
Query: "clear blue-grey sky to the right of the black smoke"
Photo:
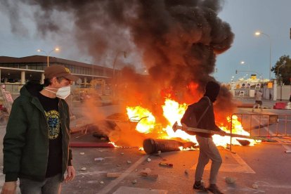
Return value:
<svg viewBox="0 0 291 194">
<path fill-rule="evenodd" d="M 233 46 L 216 60 L 214 77 L 221 82 L 238 79 L 252 71 L 269 79 L 270 39 L 271 66 L 283 55 L 291 53 L 291 1 L 289 0 L 228 0 L 219 17 L 231 25 L 235 39 Z M 270 39 L 254 32 L 264 32 Z M 245 61 L 244 65 L 240 62 Z M 275 78 L 271 72 L 271 78 Z"/>
</svg>

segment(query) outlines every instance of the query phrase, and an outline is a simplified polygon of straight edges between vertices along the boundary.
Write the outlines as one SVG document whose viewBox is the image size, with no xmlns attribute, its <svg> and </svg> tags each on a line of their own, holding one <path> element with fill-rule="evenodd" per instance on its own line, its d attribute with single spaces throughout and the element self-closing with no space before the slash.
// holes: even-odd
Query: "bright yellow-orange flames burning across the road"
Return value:
<svg viewBox="0 0 291 194">
<path fill-rule="evenodd" d="M 155 133 L 158 134 L 158 138 L 163 139 L 169 139 L 169 138 L 181 138 L 184 141 L 192 141 L 194 143 L 198 143 L 196 141 L 195 136 L 190 136 L 185 131 L 182 131 L 178 129 L 177 131 L 174 131 L 172 129 L 172 126 L 175 122 L 180 123 L 181 117 L 183 117 L 184 112 L 187 109 L 186 103 L 179 104 L 176 101 L 173 101 L 172 99 L 166 98 L 164 101 L 164 105 L 162 105 L 163 115 L 167 119 L 167 126 L 166 127 L 160 127 L 160 124 L 157 124 L 155 122 L 155 117 L 153 114 L 146 108 L 142 108 L 141 106 L 136 107 L 127 107 L 127 115 L 129 119 L 134 120 L 138 122 L 136 125 L 136 131 L 143 133 L 143 134 L 149 134 L 149 133 Z M 237 116 L 233 116 L 233 119 L 231 117 L 227 118 L 228 123 L 227 124 L 219 124 L 219 128 L 222 130 L 230 133 L 230 129 L 228 129 L 227 126 L 232 121 L 233 134 L 240 134 L 245 136 L 250 136 L 250 134 L 243 129 L 242 124 L 238 120 Z M 245 138 L 239 138 L 239 139 L 245 139 Z M 256 141 L 253 139 L 247 139 L 250 141 L 250 145 L 254 145 Z M 219 136 L 214 135 L 213 141 L 216 145 L 221 145 L 226 147 L 231 142 L 230 136 Z M 233 138 L 232 144 L 234 145 L 240 145 L 238 141 L 236 141 L 236 138 Z"/>
</svg>

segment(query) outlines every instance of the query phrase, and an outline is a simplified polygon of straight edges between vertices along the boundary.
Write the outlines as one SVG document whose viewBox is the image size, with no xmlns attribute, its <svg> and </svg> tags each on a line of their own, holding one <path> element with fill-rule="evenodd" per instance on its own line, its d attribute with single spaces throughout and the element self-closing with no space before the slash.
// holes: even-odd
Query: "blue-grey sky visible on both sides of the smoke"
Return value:
<svg viewBox="0 0 291 194">
<path fill-rule="evenodd" d="M 1 0 L 4 1 L 4 0 Z M 77 48 L 73 39 L 67 38 L 53 41 L 53 37 L 43 37 L 32 22 L 30 7 L 19 4 L 24 11 L 18 30 L 11 26 L 6 14 L 6 8 L 0 7 L 0 56 L 23 57 L 32 55 L 45 55 L 37 53 L 41 49 L 49 53 L 56 46 L 60 52 L 51 52 L 50 56 L 77 60 L 89 63 L 91 56 L 86 55 L 82 49 Z M 290 0 L 226 0 L 219 12 L 219 18 L 228 22 L 235 34 L 233 45 L 228 51 L 221 53 L 216 58 L 216 72 L 213 76 L 219 82 L 230 82 L 250 74 L 269 79 L 270 42 L 271 65 L 283 55 L 291 52 L 291 1 Z M 70 25 L 68 23 L 67 25 Z M 257 37 L 254 32 L 264 32 Z M 51 35 L 53 36 L 53 35 Z M 62 45 L 66 45 L 65 48 Z M 108 56 L 104 65 L 111 67 L 115 56 Z M 130 63 L 131 58 L 122 58 Z M 244 65 L 241 65 L 244 61 Z M 139 64 L 140 65 L 140 64 Z M 238 70 L 238 74 L 235 74 Z M 233 78 L 234 77 L 234 78 Z M 271 78 L 275 78 L 273 72 Z"/>
</svg>

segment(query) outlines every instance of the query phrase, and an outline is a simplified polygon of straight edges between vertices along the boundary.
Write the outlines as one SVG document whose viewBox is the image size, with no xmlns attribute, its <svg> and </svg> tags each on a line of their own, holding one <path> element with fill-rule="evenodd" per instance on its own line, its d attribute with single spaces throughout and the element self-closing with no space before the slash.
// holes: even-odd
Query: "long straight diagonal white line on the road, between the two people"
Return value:
<svg viewBox="0 0 291 194">
<path fill-rule="evenodd" d="M 110 190 L 112 190 L 112 188 L 114 188 L 115 186 L 117 186 L 117 184 L 122 181 L 125 177 L 127 177 L 127 175 L 129 175 L 132 171 L 134 171 L 134 169 L 136 169 L 136 167 L 141 164 L 143 161 L 145 161 L 148 158 L 148 155 L 144 155 L 143 157 L 141 157 L 138 161 L 136 161 L 134 164 L 131 165 L 131 167 L 129 167 L 124 173 L 122 173 L 121 176 L 119 176 L 117 179 L 115 179 L 114 181 L 111 181 L 107 186 L 105 186 L 102 190 L 98 191 L 99 194 L 105 194 L 105 193 L 109 193 Z"/>
</svg>

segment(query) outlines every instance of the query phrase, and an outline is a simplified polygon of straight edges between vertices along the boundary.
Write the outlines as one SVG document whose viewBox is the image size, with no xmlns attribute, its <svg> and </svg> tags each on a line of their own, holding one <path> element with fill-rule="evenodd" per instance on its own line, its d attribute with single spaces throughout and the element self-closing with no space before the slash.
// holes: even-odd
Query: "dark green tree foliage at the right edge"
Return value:
<svg viewBox="0 0 291 194">
<path fill-rule="evenodd" d="M 290 85 L 291 79 L 291 59 L 289 56 L 281 56 L 276 62 L 276 65 L 272 67 L 272 72 L 275 73 L 278 79 L 278 84 L 283 82 L 285 85 Z"/>
</svg>

